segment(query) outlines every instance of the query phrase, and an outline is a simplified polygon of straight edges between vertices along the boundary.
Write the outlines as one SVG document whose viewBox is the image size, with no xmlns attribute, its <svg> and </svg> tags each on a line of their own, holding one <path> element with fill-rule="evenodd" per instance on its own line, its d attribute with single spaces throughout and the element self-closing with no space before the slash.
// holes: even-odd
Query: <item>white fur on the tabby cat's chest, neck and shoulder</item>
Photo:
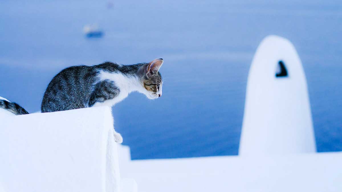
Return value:
<svg viewBox="0 0 342 192">
<path fill-rule="evenodd" d="M 109 99 L 104 102 L 96 102 L 93 107 L 98 106 L 113 106 L 122 101 L 133 91 L 140 91 L 142 85 L 136 76 L 126 76 L 122 73 L 110 73 L 106 71 L 100 71 L 100 81 L 110 80 L 114 81 L 115 85 L 119 88 L 120 93 L 114 99 Z"/>
</svg>

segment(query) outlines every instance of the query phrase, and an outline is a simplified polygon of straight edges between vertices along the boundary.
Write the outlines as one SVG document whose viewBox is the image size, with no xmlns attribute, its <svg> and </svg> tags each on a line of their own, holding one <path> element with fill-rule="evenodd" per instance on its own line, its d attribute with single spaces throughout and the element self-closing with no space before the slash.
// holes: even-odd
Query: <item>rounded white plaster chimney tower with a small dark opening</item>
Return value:
<svg viewBox="0 0 342 192">
<path fill-rule="evenodd" d="M 288 77 L 275 77 L 279 60 Z M 248 75 L 239 155 L 307 152 L 316 144 L 302 63 L 290 41 L 268 36 Z"/>
</svg>

